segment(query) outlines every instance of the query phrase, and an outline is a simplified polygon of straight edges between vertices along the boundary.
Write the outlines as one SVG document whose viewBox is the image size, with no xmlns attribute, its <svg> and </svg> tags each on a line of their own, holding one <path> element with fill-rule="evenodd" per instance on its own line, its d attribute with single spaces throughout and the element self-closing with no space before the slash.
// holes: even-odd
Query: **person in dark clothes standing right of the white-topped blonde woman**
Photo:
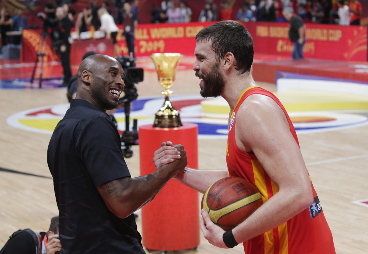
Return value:
<svg viewBox="0 0 368 254">
<path fill-rule="evenodd" d="M 138 25 L 138 17 L 135 12 L 132 11 L 132 6 L 129 1 L 124 3 L 124 15 L 123 15 L 123 26 L 125 40 L 127 42 L 129 55 L 134 57 L 134 31 Z"/>
</svg>

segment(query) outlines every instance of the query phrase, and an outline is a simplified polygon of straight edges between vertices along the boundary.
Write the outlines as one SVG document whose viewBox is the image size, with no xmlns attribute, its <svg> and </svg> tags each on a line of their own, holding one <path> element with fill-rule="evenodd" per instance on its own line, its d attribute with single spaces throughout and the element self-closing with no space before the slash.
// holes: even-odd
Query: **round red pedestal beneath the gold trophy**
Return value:
<svg viewBox="0 0 368 254">
<path fill-rule="evenodd" d="M 177 128 L 139 127 L 141 175 L 156 171 L 153 153 L 162 142 L 182 144 L 188 167 L 198 168 L 198 126 Z M 142 244 L 150 250 L 186 250 L 199 245 L 198 192 L 175 179 L 142 208 Z"/>
</svg>

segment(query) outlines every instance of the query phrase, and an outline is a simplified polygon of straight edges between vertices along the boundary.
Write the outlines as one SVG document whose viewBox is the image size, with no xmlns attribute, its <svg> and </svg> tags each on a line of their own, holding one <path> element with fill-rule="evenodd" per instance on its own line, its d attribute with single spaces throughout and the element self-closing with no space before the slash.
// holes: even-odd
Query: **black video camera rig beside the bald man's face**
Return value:
<svg viewBox="0 0 368 254">
<path fill-rule="evenodd" d="M 135 67 L 134 58 L 128 56 L 117 56 L 115 59 L 120 62 L 125 72 L 125 86 L 124 86 L 124 97 L 119 99 L 118 104 L 124 103 L 125 112 L 125 130 L 121 135 L 121 151 L 124 157 L 130 158 L 133 156 L 133 151 L 130 149 L 131 146 L 138 145 L 138 130 L 137 130 L 137 119 L 133 120 L 133 128 L 130 130 L 129 115 L 130 115 L 130 103 L 137 99 L 137 83 L 143 81 L 143 69 Z"/>
</svg>

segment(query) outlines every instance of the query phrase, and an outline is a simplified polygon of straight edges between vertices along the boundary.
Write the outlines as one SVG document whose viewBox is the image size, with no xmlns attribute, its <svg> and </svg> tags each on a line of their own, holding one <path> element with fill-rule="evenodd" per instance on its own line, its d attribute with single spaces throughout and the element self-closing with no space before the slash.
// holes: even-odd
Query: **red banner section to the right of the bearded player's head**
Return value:
<svg viewBox="0 0 368 254">
<path fill-rule="evenodd" d="M 253 37 L 256 53 L 291 56 L 289 23 L 244 23 Z M 305 24 L 304 57 L 367 61 L 367 27 Z"/>
</svg>

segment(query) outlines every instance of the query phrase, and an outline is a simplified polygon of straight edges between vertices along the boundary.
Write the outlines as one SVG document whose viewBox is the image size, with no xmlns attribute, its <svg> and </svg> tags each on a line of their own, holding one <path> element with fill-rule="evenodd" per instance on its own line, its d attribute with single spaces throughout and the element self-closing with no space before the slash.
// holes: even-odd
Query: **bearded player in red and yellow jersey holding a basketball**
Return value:
<svg viewBox="0 0 368 254">
<path fill-rule="evenodd" d="M 195 39 L 193 69 L 202 79 L 201 95 L 222 96 L 230 106 L 228 171 L 186 168 L 176 179 L 204 193 L 216 180 L 238 176 L 256 185 L 263 200 L 250 217 L 227 232 L 202 209 L 205 238 L 221 248 L 243 242 L 247 254 L 335 254 L 293 124 L 275 95 L 252 79 L 250 33 L 236 21 L 222 21 L 202 29 Z"/>
</svg>

